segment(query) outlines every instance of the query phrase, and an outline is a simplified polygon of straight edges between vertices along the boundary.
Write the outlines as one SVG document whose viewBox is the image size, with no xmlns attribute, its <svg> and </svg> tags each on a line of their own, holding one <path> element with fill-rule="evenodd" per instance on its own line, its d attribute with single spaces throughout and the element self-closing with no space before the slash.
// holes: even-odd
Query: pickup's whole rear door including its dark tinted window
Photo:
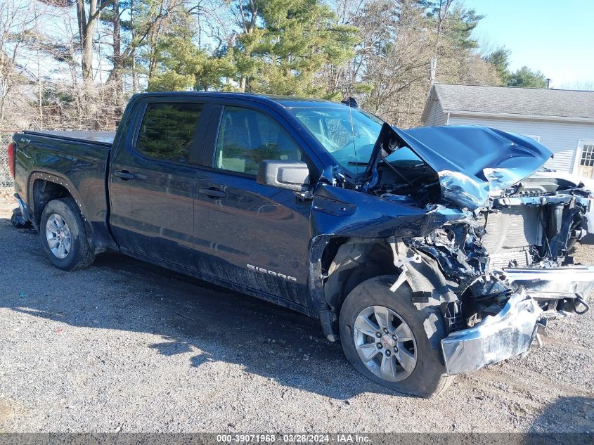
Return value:
<svg viewBox="0 0 594 445">
<path fill-rule="evenodd" d="M 197 169 L 191 157 L 200 117 L 198 103 L 148 103 L 135 148 L 129 141 L 117 150 L 110 224 L 122 250 L 191 266 Z"/>
</svg>

